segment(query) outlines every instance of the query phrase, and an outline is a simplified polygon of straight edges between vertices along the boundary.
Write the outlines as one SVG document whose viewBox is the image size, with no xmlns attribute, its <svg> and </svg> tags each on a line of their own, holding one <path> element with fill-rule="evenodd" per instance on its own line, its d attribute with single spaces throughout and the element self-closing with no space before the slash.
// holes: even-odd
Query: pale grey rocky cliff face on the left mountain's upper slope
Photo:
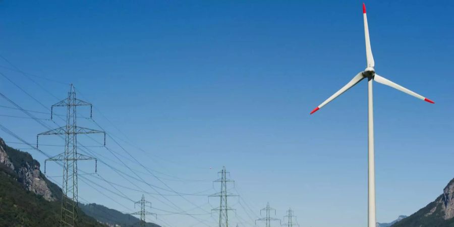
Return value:
<svg viewBox="0 0 454 227">
<path fill-rule="evenodd" d="M 52 195 L 39 170 L 39 162 L 29 153 L 7 146 L 2 138 L 0 138 L 0 163 L 14 171 L 18 181 L 28 191 L 41 195 L 47 201 L 55 201 L 55 196 Z"/>
</svg>

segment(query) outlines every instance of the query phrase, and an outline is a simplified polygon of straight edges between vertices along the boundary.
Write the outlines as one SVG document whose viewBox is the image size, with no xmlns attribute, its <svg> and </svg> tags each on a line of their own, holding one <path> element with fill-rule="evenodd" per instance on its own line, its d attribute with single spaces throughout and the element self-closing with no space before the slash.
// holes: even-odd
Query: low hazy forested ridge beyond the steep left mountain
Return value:
<svg viewBox="0 0 454 227">
<path fill-rule="evenodd" d="M 124 214 L 120 211 L 107 208 L 96 203 L 79 204 L 79 207 L 89 216 L 95 217 L 99 222 L 109 226 L 139 226 L 139 218 Z M 154 223 L 147 223 L 147 227 L 160 227 Z"/>
</svg>

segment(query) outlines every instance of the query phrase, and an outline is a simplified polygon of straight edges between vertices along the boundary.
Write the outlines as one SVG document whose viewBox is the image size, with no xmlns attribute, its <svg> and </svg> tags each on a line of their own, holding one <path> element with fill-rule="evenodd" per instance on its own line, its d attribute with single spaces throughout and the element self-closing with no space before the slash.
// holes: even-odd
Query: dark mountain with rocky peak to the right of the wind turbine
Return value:
<svg viewBox="0 0 454 227">
<path fill-rule="evenodd" d="M 392 227 L 454 227 L 454 179 L 435 201 Z"/>
</svg>

